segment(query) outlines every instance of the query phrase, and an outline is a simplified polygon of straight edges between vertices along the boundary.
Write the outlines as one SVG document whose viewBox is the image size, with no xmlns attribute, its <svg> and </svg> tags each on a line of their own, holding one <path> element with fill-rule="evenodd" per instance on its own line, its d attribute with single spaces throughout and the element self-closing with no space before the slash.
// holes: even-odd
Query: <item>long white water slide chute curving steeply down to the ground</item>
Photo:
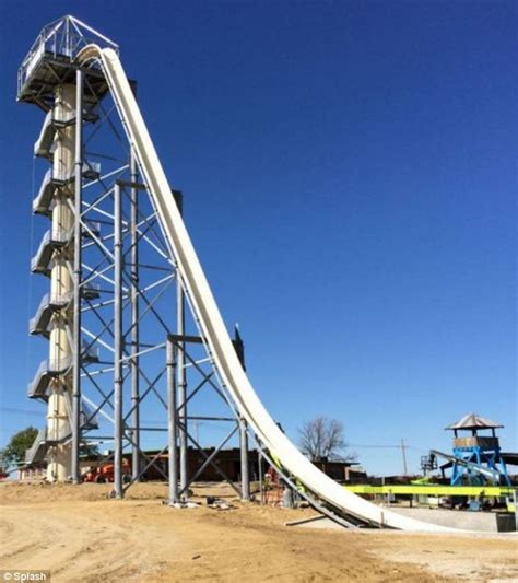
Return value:
<svg viewBox="0 0 518 583">
<path fill-rule="evenodd" d="M 89 45 L 78 55 L 78 61 L 87 63 L 92 60 L 101 62 L 106 75 L 221 381 L 239 413 L 247 420 L 264 447 L 308 491 L 330 505 L 339 515 L 403 530 L 456 532 L 454 528 L 428 524 L 388 511 L 346 491 L 314 466 L 279 429 L 239 363 L 117 53 L 110 48 L 102 49 L 97 45 Z"/>
</svg>

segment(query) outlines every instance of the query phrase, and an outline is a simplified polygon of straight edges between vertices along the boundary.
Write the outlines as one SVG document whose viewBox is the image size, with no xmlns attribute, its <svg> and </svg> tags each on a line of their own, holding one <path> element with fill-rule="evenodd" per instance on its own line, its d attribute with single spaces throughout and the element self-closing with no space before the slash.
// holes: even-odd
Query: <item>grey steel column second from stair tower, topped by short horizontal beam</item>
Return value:
<svg viewBox="0 0 518 583">
<path fill-rule="evenodd" d="M 114 495 L 122 498 L 122 193 L 114 189 Z"/>
</svg>

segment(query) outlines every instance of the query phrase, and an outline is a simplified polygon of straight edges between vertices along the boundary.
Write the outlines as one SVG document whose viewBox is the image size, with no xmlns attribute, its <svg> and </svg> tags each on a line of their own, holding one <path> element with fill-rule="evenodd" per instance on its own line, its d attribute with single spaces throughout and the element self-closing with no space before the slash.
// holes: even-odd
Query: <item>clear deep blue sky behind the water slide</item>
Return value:
<svg viewBox="0 0 518 583">
<path fill-rule="evenodd" d="M 44 420 L 25 398 L 42 114 L 16 105 L 16 69 L 72 13 L 121 46 L 225 320 L 290 435 L 339 418 L 369 471 L 401 470 L 398 450 L 365 447 L 401 438 L 417 470 L 476 411 L 517 450 L 514 2 L 0 4 L 0 445 Z"/>
</svg>

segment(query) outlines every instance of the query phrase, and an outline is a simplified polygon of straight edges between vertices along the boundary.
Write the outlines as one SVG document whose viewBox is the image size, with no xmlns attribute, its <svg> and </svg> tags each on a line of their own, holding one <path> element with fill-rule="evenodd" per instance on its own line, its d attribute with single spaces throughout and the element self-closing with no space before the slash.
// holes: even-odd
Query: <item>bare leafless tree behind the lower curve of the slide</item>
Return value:
<svg viewBox="0 0 518 583">
<path fill-rule="evenodd" d="M 342 421 L 318 416 L 298 429 L 298 445 L 311 462 L 322 458 L 352 462 L 356 454 L 348 452 Z"/>
</svg>

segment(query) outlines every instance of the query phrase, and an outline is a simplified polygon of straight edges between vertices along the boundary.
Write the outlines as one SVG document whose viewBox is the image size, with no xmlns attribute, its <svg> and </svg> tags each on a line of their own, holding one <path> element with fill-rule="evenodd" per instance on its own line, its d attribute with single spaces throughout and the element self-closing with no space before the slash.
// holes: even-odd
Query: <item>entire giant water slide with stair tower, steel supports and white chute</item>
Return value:
<svg viewBox="0 0 518 583">
<path fill-rule="evenodd" d="M 49 357 L 28 388 L 47 404 L 48 424 L 26 462 L 46 458 L 49 479 L 79 483 L 82 444 L 113 440 L 114 495 L 121 498 L 155 463 L 142 451 L 143 432 L 161 431 L 168 503 L 178 505 L 196 479 L 187 476 L 187 444 L 202 451 L 190 423 L 222 422 L 229 430 L 219 448 L 239 435 L 244 499 L 251 436 L 286 486 L 343 526 L 450 530 L 343 489 L 270 417 L 246 376 L 240 338 L 233 341 L 223 323 L 181 218 L 181 196 L 172 193 L 134 95 L 118 46 L 73 16 L 42 31 L 19 72 L 19 101 L 46 113 L 35 155 L 51 162 L 33 207 L 51 226 L 32 265 L 49 278 L 50 293 L 31 322 L 31 333 L 49 340 Z M 108 136 L 99 140 L 103 129 Z M 188 413 L 200 392 L 208 412 Z M 143 423 L 152 397 L 164 413 L 160 428 Z M 213 412 L 214 398 L 226 416 Z M 132 477 L 123 483 L 128 448 Z M 212 463 L 209 456 L 202 467 Z"/>
</svg>

